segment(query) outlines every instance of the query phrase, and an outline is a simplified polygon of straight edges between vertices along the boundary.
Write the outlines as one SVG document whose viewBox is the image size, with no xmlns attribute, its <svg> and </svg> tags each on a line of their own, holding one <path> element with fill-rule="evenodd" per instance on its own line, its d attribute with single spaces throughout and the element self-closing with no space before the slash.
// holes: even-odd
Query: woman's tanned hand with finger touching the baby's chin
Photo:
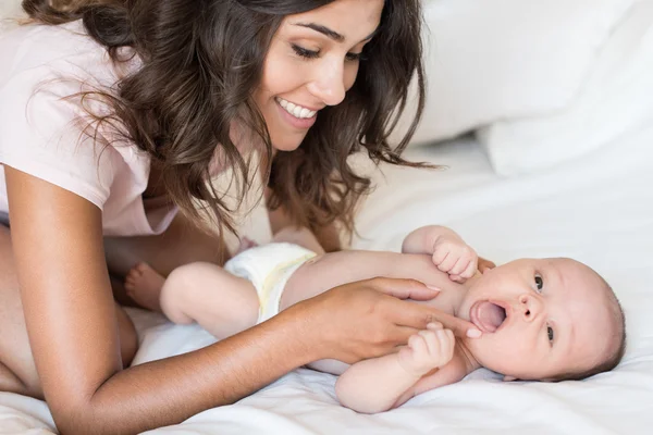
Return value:
<svg viewBox="0 0 653 435">
<path fill-rule="evenodd" d="M 354 363 L 397 351 L 432 322 L 442 323 L 459 337 L 480 337 L 481 332 L 468 321 L 402 300 L 435 296 L 436 290 L 414 279 L 372 278 L 332 288 L 284 313 L 301 320 L 306 349 L 315 353 L 315 360 Z"/>
</svg>

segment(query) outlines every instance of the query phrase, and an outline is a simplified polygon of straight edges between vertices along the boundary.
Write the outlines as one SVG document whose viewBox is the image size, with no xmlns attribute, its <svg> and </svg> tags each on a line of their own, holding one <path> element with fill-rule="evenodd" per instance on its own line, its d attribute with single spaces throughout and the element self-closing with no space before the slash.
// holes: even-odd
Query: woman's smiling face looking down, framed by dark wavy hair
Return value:
<svg viewBox="0 0 653 435">
<path fill-rule="evenodd" d="M 255 94 L 274 149 L 297 149 L 320 110 L 343 101 L 382 11 L 383 0 L 336 0 L 283 20 Z"/>
</svg>

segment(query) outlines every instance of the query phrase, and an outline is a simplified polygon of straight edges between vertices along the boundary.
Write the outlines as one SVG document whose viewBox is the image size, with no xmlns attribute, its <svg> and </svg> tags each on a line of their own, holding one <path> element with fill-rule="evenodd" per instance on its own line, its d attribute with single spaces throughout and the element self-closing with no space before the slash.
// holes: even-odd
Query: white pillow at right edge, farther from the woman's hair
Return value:
<svg viewBox="0 0 653 435">
<path fill-rule="evenodd" d="M 636 3 L 603 47 L 576 99 L 546 116 L 479 132 L 496 172 L 545 169 L 653 122 L 653 1 Z"/>
</svg>

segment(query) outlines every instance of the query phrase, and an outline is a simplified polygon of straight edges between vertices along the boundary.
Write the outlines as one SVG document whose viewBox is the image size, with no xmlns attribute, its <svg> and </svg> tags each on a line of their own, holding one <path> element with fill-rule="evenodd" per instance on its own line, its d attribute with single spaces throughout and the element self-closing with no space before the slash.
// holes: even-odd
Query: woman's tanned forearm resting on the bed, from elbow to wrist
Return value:
<svg viewBox="0 0 653 435">
<path fill-rule="evenodd" d="M 204 349 L 115 373 L 62 433 L 137 433 L 234 401 L 318 358 L 296 316 L 280 315 Z M 62 417 L 62 415 L 60 415 Z"/>
</svg>

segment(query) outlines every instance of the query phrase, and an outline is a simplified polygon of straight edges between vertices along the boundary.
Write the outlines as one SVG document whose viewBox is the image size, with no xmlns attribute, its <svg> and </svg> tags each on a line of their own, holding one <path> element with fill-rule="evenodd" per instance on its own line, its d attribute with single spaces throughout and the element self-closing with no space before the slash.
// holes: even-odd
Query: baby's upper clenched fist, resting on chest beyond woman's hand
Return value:
<svg viewBox="0 0 653 435">
<path fill-rule="evenodd" d="M 433 244 L 433 264 L 446 272 L 452 281 L 464 283 L 477 271 L 479 256 L 460 236 L 442 234 Z"/>
</svg>

